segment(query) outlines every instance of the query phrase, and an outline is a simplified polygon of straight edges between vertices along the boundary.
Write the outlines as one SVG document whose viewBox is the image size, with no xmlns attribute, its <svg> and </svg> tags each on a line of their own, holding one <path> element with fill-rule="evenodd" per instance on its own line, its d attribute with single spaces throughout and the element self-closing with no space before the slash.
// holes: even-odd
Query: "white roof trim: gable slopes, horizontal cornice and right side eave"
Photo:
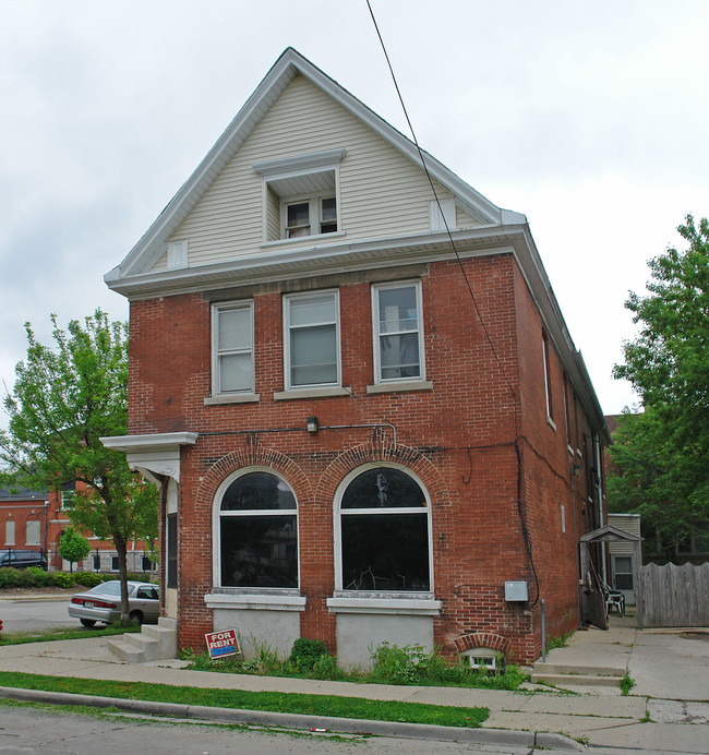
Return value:
<svg viewBox="0 0 709 755">
<path fill-rule="evenodd" d="M 360 119 L 401 155 L 421 168 L 421 156 L 411 140 L 368 108 L 336 81 L 289 47 L 268 71 L 235 119 L 219 136 L 196 170 L 180 188 L 125 259 L 104 276 L 107 286 L 127 297 L 154 297 L 177 291 L 200 291 L 233 285 L 235 277 L 243 283 L 276 280 L 317 272 L 339 272 L 345 266 L 389 266 L 414 260 L 454 259 L 446 232 L 406 238 L 334 243 L 299 248 L 295 251 L 271 251 L 229 262 L 195 265 L 177 269 L 151 272 L 165 254 L 167 241 L 192 212 L 205 192 L 247 141 L 290 82 L 304 76 L 325 94 Z M 610 435 L 603 412 L 593 391 L 580 351 L 570 338 L 556 297 L 544 271 L 534 240 L 520 213 L 502 209 L 477 192 L 452 170 L 422 151 L 425 167 L 434 181 L 447 189 L 456 204 L 478 218 L 474 229 L 455 230 L 452 236 L 458 252 L 466 255 L 489 254 L 495 248 L 512 250 L 529 289 L 539 307 L 544 325 L 554 341 L 579 398 L 594 430 L 604 444 Z M 228 281 L 228 283 L 225 283 Z"/>
</svg>

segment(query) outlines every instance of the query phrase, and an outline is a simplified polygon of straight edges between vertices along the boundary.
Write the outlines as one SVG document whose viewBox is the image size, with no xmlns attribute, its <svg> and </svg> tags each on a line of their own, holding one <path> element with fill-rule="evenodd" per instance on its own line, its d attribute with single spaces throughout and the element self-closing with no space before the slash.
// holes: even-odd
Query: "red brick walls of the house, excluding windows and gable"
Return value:
<svg viewBox="0 0 709 755">
<path fill-rule="evenodd" d="M 351 387 L 344 397 L 274 400 L 274 392 L 284 390 L 283 291 L 276 284 L 235 296 L 254 300 L 257 404 L 204 406 L 211 391 L 211 309 L 201 295 L 131 304 L 129 432 L 254 431 L 201 435 L 182 452 L 181 646 L 203 645 L 212 628 L 204 595 L 212 588 L 215 492 L 231 471 L 260 464 L 278 470 L 298 500 L 301 592 L 308 597 L 301 632 L 336 650 L 334 616 L 325 606 L 334 588 L 333 498 L 351 469 L 389 459 L 418 474 L 431 496 L 434 588 L 443 602 L 435 642 L 455 652 L 457 638 L 488 633 L 508 638 L 517 660 L 534 658 L 541 643 L 538 607 L 530 612 L 504 601 L 508 579 L 526 579 L 531 599 L 536 596 L 517 508 L 516 438 L 524 459 L 522 507 L 552 615 L 550 632 L 560 625 L 575 602 L 574 548 L 568 510 L 566 538 L 560 537 L 558 504 L 569 496 L 567 451 L 563 428 L 553 433 L 546 423 L 540 319 L 510 254 L 464 264 L 488 334 L 457 263 L 420 266 L 426 379 L 433 382 L 433 390 L 423 392 L 366 393 L 373 356 L 365 273 L 308 283 L 310 288 L 339 284 L 343 385 Z M 389 272 L 392 280 L 413 277 Z M 284 284 L 288 290 L 297 286 Z M 555 385 L 561 375 L 555 359 Z M 561 394 L 558 402 L 563 406 Z M 398 447 L 388 429 L 259 433 L 303 428 L 309 416 L 321 427 L 390 422 Z"/>
</svg>

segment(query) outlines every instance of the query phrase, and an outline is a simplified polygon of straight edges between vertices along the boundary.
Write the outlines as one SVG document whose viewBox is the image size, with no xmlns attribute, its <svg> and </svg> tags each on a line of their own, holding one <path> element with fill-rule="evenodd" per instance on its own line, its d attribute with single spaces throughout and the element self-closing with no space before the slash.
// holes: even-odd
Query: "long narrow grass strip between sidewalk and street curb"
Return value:
<svg viewBox="0 0 709 755">
<path fill-rule="evenodd" d="M 0 671 L 0 685 L 23 690 L 68 692 L 132 700 L 204 705 L 217 708 L 268 710 L 304 716 L 335 716 L 375 721 L 431 723 L 444 727 L 477 729 L 488 718 L 486 708 L 457 708 L 422 703 L 371 700 L 360 697 L 305 695 L 245 690 L 202 690 L 149 682 L 117 682 L 91 679 L 45 676 Z"/>
</svg>

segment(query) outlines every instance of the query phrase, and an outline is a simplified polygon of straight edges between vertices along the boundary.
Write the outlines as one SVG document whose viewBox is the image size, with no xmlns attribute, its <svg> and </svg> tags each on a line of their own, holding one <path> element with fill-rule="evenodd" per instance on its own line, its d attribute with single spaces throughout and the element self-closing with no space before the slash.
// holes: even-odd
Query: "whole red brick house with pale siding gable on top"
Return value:
<svg viewBox="0 0 709 755">
<path fill-rule="evenodd" d="M 603 415 L 524 215 L 288 49 L 106 275 L 179 645 L 517 661 L 576 622 Z M 449 231 L 449 233 L 448 233 Z M 506 583 L 512 583 L 507 584 Z M 570 619 L 569 619 L 570 618 Z M 580 619 L 580 618 L 579 618 Z"/>
</svg>

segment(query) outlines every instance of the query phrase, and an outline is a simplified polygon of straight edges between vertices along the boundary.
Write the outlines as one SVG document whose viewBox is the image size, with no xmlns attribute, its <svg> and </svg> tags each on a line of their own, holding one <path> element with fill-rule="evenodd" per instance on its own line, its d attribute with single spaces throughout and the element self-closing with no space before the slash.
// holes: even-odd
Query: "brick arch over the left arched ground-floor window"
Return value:
<svg viewBox="0 0 709 755">
<path fill-rule="evenodd" d="M 243 448 L 223 456 L 207 469 L 197 490 L 196 504 L 211 507 L 224 480 L 244 467 L 267 467 L 279 472 L 296 492 L 299 508 L 301 501 L 312 500 L 313 489 L 308 476 L 289 456 L 249 439 Z"/>
</svg>

